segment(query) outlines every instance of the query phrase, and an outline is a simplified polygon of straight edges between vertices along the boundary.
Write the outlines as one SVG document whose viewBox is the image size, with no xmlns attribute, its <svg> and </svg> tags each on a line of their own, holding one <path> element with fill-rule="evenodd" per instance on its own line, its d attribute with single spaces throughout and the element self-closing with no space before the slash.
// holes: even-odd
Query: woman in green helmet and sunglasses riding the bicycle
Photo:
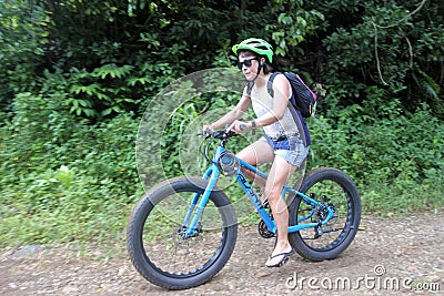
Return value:
<svg viewBox="0 0 444 296">
<path fill-rule="evenodd" d="M 278 238 L 265 265 L 279 267 L 295 253 L 289 243 L 289 211 L 282 197 L 282 188 L 307 156 L 310 134 L 306 129 L 297 127 L 305 127 L 302 116 L 296 119 L 302 124 L 296 124 L 289 109 L 289 99 L 293 95 L 290 82 L 283 74 L 272 72 L 272 45 L 262 39 L 250 38 L 234 45 L 233 52 L 238 55 L 239 68 L 249 83 L 236 106 L 218 121 L 204 125 L 203 130 L 216 130 L 229 124 L 229 130 L 243 133 L 263 127 L 264 135 L 243 149 L 238 156 L 252 165 L 272 163 L 268 180 L 248 170 L 242 170 L 242 173 L 254 180 L 263 190 L 263 200 L 270 204 Z M 273 96 L 269 91 L 270 85 L 273 88 Z M 241 121 L 250 106 L 253 108 L 256 119 Z"/>
</svg>

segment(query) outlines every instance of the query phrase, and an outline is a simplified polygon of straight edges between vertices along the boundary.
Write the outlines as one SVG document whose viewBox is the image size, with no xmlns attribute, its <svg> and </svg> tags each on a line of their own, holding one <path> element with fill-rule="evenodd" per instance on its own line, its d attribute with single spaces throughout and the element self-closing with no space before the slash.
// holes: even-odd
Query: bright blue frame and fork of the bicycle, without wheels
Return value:
<svg viewBox="0 0 444 296">
<path fill-rule="evenodd" d="M 220 157 L 220 155 L 225 151 L 225 147 L 223 144 L 221 144 L 220 146 L 218 146 L 216 152 L 213 155 L 213 160 L 212 160 L 212 164 L 210 165 L 210 167 L 208 167 L 206 172 L 203 175 L 204 180 L 209 180 L 209 184 L 205 188 L 205 191 L 203 192 L 202 195 L 200 194 L 195 194 L 194 197 L 192 198 L 192 202 L 190 204 L 190 208 L 182 222 L 182 226 L 184 228 L 186 228 L 186 233 L 184 233 L 185 237 L 190 237 L 195 235 L 196 229 L 198 229 L 198 223 L 199 223 L 199 218 L 202 215 L 203 210 L 206 206 L 206 203 L 210 198 L 210 194 L 211 192 L 214 190 L 214 187 L 216 186 L 218 180 L 220 177 L 220 171 L 218 167 L 218 159 Z M 246 170 L 252 171 L 253 173 L 258 174 L 261 177 L 266 178 L 268 174 L 261 172 L 259 169 L 250 165 L 249 163 L 244 162 L 243 160 L 239 159 L 239 163 L 241 165 L 241 167 L 244 167 Z M 272 233 L 276 233 L 276 225 L 274 223 L 274 220 L 271 218 L 271 216 L 269 215 L 269 213 L 266 212 L 266 210 L 263 207 L 262 201 L 261 198 L 258 196 L 258 194 L 254 192 L 253 187 L 251 186 L 250 182 L 246 180 L 246 177 L 243 175 L 243 173 L 241 172 L 241 170 L 238 170 L 238 172 L 235 173 L 235 178 L 239 183 L 239 185 L 242 187 L 243 192 L 246 194 L 246 196 L 249 197 L 250 202 L 253 204 L 254 208 L 256 210 L 258 214 L 261 216 L 261 218 L 263 220 L 263 222 L 265 223 L 268 229 Z M 301 229 L 305 229 L 305 228 L 311 228 L 311 227 L 317 227 L 321 225 L 325 225 L 334 215 L 334 210 L 332 210 L 330 206 L 325 206 L 322 203 L 319 203 L 317 201 L 311 198 L 310 196 L 290 187 L 287 184 L 285 184 L 285 186 L 282 190 L 282 197 L 284 197 L 284 195 L 286 193 L 292 193 L 295 194 L 297 196 L 301 196 L 302 201 L 312 206 L 312 211 L 307 216 L 304 217 L 300 217 L 297 218 L 297 225 L 292 225 L 289 226 L 289 233 L 295 233 L 299 232 Z M 299 224 L 302 221 L 309 220 L 315 208 L 325 208 L 327 210 L 329 214 L 326 216 L 325 220 L 319 222 L 319 223 L 305 223 L 305 224 Z M 195 210 L 195 212 L 194 212 Z M 194 212 L 194 215 L 193 215 Z M 190 218 L 192 217 L 192 220 L 190 221 Z"/>
</svg>

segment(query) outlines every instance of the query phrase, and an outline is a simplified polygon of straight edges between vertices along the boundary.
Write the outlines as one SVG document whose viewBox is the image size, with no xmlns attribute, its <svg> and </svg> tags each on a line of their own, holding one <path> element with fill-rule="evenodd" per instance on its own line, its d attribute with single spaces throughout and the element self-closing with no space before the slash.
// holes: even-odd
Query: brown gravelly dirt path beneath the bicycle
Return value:
<svg viewBox="0 0 444 296">
<path fill-rule="evenodd" d="M 272 241 L 242 227 L 229 264 L 210 283 L 169 292 L 145 282 L 125 253 L 112 259 L 91 249 L 4 252 L 0 295 L 443 295 L 444 216 L 423 213 L 383 221 L 365 216 L 354 243 L 339 258 L 321 263 L 293 256 L 281 268 L 264 263 Z"/>
</svg>

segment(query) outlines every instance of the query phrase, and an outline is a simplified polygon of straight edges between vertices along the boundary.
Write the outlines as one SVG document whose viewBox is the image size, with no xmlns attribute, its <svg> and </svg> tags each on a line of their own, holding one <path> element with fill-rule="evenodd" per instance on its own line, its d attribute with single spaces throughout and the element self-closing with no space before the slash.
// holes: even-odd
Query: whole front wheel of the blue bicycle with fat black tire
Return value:
<svg viewBox="0 0 444 296">
<path fill-rule="evenodd" d="M 210 280 L 233 253 L 238 237 L 234 210 L 226 195 L 213 190 L 192 236 L 183 220 L 191 201 L 208 185 L 201 178 L 167 180 L 147 192 L 128 225 L 128 252 L 135 269 L 168 289 L 191 288 Z"/>
</svg>

